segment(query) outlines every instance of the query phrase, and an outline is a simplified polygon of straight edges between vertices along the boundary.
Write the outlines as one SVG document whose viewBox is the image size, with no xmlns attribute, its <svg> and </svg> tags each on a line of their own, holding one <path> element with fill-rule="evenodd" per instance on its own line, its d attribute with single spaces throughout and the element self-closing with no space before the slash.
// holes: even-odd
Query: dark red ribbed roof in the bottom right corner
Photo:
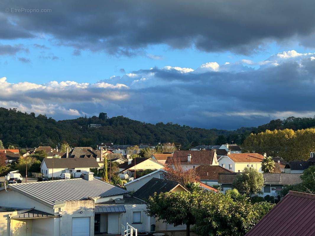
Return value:
<svg viewBox="0 0 315 236">
<path fill-rule="evenodd" d="M 245 236 L 315 235 L 315 195 L 289 191 Z"/>
</svg>

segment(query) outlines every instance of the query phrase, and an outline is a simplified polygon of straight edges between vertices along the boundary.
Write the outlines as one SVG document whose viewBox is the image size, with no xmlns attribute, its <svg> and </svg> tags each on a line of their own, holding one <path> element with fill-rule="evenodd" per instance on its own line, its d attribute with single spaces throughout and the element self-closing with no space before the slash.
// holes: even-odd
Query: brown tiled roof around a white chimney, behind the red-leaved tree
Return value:
<svg viewBox="0 0 315 236">
<path fill-rule="evenodd" d="M 187 160 L 187 155 L 191 155 L 191 160 Z M 182 165 L 212 165 L 215 151 L 201 150 L 201 151 L 186 151 L 178 150 L 173 153 L 171 157 L 166 159 L 165 164 L 172 164 L 173 160 L 179 159 Z"/>
</svg>

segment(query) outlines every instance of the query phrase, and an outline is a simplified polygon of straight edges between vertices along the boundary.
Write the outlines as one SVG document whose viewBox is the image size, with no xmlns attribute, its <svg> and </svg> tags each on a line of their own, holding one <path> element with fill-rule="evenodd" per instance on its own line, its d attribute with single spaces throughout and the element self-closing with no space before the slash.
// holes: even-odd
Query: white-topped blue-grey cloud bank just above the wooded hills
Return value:
<svg viewBox="0 0 315 236">
<path fill-rule="evenodd" d="M 151 123 L 233 129 L 291 115 L 313 116 L 315 53 L 292 50 L 260 62 L 206 62 L 195 69 L 148 68 L 94 84 L 14 84 L 3 77 L 0 87 L 5 91 L 0 106 L 57 120 L 104 111 Z"/>
</svg>

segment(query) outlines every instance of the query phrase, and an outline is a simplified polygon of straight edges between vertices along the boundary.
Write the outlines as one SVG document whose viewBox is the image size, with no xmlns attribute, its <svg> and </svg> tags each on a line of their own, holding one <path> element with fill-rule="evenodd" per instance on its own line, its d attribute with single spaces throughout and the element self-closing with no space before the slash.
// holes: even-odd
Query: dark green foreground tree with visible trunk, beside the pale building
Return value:
<svg viewBox="0 0 315 236">
<path fill-rule="evenodd" d="M 186 236 L 190 235 L 190 226 L 195 224 L 192 209 L 194 198 L 199 192 L 156 193 L 146 200 L 146 214 L 174 226 L 186 225 Z"/>
</svg>

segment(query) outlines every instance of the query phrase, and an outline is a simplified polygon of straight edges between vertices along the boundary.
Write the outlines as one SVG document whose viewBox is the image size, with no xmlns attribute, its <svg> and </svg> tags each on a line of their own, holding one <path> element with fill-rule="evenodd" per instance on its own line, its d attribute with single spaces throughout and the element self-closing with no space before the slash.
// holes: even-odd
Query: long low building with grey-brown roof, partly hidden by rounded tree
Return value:
<svg viewBox="0 0 315 236">
<path fill-rule="evenodd" d="M 239 173 L 219 173 L 218 183 L 221 184 L 222 192 L 227 189 L 233 188 L 233 181 Z M 261 189 L 262 194 L 259 196 L 277 196 L 284 186 L 296 185 L 302 183 L 301 174 L 288 174 L 288 173 L 263 173 L 264 187 Z"/>
</svg>

